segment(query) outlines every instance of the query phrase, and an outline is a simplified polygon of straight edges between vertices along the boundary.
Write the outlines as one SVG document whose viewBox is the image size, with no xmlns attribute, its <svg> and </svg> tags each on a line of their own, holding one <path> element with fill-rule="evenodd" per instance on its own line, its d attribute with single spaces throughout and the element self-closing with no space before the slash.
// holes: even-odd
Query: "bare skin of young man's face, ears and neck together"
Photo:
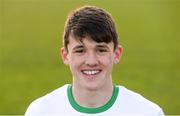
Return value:
<svg viewBox="0 0 180 116">
<path fill-rule="evenodd" d="M 112 96 L 112 69 L 117 64 L 122 47 L 114 50 L 114 44 L 97 43 L 91 38 L 82 42 L 69 37 L 68 52 L 61 48 L 61 56 L 70 67 L 72 92 L 76 102 L 84 107 L 100 107 Z"/>
</svg>

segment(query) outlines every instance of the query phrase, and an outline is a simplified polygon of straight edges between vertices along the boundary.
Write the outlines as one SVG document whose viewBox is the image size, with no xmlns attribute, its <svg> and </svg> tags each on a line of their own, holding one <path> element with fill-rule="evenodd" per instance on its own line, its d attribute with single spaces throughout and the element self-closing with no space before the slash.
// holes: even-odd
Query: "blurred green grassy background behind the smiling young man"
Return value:
<svg viewBox="0 0 180 116">
<path fill-rule="evenodd" d="M 68 13 L 82 5 L 114 17 L 124 47 L 114 83 L 180 114 L 180 0 L 0 0 L 0 114 L 24 114 L 71 82 L 59 48 Z"/>
</svg>

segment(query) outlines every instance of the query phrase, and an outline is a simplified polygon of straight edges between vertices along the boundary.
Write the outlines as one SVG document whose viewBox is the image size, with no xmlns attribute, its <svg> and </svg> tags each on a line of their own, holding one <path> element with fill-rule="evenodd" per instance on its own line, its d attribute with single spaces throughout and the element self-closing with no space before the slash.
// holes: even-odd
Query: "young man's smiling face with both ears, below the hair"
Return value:
<svg viewBox="0 0 180 116">
<path fill-rule="evenodd" d="M 113 49 L 110 43 L 97 43 L 91 39 L 77 41 L 70 36 L 68 52 L 61 49 L 65 64 L 73 75 L 73 84 L 90 90 L 112 84 L 113 64 L 118 63 L 122 48 Z"/>
</svg>

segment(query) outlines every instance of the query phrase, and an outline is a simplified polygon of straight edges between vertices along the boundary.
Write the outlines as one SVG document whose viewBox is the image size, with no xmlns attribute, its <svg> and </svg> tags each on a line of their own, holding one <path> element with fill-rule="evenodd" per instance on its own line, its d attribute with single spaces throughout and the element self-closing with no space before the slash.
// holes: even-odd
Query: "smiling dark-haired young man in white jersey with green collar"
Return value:
<svg viewBox="0 0 180 116">
<path fill-rule="evenodd" d="M 72 12 L 61 48 L 72 84 L 35 100 L 25 115 L 163 115 L 156 104 L 112 83 L 113 65 L 119 62 L 122 50 L 110 14 L 94 6 Z"/>
</svg>

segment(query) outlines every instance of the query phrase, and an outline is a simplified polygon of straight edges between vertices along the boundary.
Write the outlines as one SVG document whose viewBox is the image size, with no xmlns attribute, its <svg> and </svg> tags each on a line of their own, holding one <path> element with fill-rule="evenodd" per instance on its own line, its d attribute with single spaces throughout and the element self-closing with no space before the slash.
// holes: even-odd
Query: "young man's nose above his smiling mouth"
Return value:
<svg viewBox="0 0 180 116">
<path fill-rule="evenodd" d="M 85 59 L 85 64 L 91 67 L 97 66 L 99 63 L 98 57 L 94 53 L 88 53 Z"/>
</svg>

